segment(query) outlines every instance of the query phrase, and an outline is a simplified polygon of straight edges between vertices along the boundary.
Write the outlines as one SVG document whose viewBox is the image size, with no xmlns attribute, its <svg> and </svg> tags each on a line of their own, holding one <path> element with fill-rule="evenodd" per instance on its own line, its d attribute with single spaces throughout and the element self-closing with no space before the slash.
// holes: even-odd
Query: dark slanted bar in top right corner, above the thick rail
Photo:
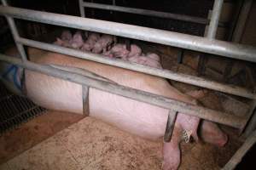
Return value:
<svg viewBox="0 0 256 170">
<path fill-rule="evenodd" d="M 239 14 L 239 17 L 238 17 L 236 29 L 234 31 L 234 36 L 232 37 L 232 42 L 241 42 L 241 36 L 246 26 L 247 17 L 252 7 L 252 4 L 253 4 L 253 0 L 244 1 L 241 7 L 241 13 Z"/>
</svg>

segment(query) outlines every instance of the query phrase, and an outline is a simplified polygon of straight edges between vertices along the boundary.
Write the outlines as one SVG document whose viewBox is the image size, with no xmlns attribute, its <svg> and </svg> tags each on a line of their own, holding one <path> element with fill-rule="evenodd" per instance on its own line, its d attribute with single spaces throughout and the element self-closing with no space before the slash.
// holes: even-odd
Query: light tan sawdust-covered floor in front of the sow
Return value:
<svg viewBox="0 0 256 170">
<path fill-rule="evenodd" d="M 180 169 L 219 169 L 240 144 L 236 138 L 224 148 L 182 144 Z M 142 139 L 89 116 L 6 164 L 10 169 L 160 169 L 162 146 L 161 139 Z"/>
</svg>

